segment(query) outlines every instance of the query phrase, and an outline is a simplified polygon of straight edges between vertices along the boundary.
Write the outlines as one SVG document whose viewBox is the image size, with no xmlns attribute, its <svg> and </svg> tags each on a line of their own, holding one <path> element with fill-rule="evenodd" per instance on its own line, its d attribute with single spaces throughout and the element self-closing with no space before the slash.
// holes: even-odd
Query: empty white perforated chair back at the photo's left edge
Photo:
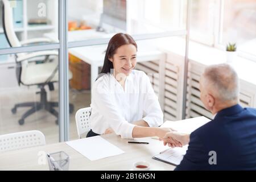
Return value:
<svg viewBox="0 0 256 182">
<path fill-rule="evenodd" d="M 42 146 L 46 138 L 41 131 L 31 130 L 0 135 L 0 152 Z"/>
</svg>

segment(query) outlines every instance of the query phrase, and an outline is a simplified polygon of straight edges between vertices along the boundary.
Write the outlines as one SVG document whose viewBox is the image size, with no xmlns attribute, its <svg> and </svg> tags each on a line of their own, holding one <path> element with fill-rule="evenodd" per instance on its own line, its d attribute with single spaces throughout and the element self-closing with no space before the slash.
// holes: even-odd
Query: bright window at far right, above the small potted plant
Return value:
<svg viewBox="0 0 256 182">
<path fill-rule="evenodd" d="M 256 0 L 225 0 L 221 44 L 236 42 L 238 50 L 256 56 Z"/>
</svg>

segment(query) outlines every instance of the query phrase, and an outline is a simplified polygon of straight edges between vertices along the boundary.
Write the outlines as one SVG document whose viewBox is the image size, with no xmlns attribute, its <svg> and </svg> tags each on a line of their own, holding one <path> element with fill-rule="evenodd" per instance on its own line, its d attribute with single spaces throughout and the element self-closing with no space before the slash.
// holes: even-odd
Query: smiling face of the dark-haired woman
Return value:
<svg viewBox="0 0 256 182">
<path fill-rule="evenodd" d="M 128 76 L 137 63 L 137 48 L 133 44 L 120 46 L 109 60 L 113 63 L 115 75 L 123 73 Z"/>
</svg>

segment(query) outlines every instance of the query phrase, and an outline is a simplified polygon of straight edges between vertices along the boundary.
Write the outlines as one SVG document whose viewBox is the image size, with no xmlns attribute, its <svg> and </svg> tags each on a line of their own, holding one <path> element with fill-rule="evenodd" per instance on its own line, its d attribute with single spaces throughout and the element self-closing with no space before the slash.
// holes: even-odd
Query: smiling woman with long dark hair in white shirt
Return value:
<svg viewBox="0 0 256 182">
<path fill-rule="evenodd" d="M 127 34 L 110 39 L 101 74 L 92 88 L 91 130 L 87 137 L 112 133 L 122 138 L 158 136 L 170 129 L 160 128 L 163 112 L 150 79 L 134 70 L 137 44 Z"/>
</svg>

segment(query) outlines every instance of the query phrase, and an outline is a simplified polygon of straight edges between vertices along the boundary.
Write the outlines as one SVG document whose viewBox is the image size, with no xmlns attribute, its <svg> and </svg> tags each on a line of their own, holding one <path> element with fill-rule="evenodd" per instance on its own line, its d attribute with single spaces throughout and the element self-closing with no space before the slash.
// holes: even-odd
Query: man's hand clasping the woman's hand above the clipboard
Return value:
<svg viewBox="0 0 256 182">
<path fill-rule="evenodd" d="M 189 134 L 184 133 L 178 133 L 177 131 L 171 131 L 169 133 L 166 133 L 166 135 L 163 137 L 164 145 L 168 144 L 170 147 L 174 146 L 174 141 L 179 141 L 182 146 L 185 146 L 189 143 Z M 179 147 L 182 147 L 179 146 Z"/>
</svg>

